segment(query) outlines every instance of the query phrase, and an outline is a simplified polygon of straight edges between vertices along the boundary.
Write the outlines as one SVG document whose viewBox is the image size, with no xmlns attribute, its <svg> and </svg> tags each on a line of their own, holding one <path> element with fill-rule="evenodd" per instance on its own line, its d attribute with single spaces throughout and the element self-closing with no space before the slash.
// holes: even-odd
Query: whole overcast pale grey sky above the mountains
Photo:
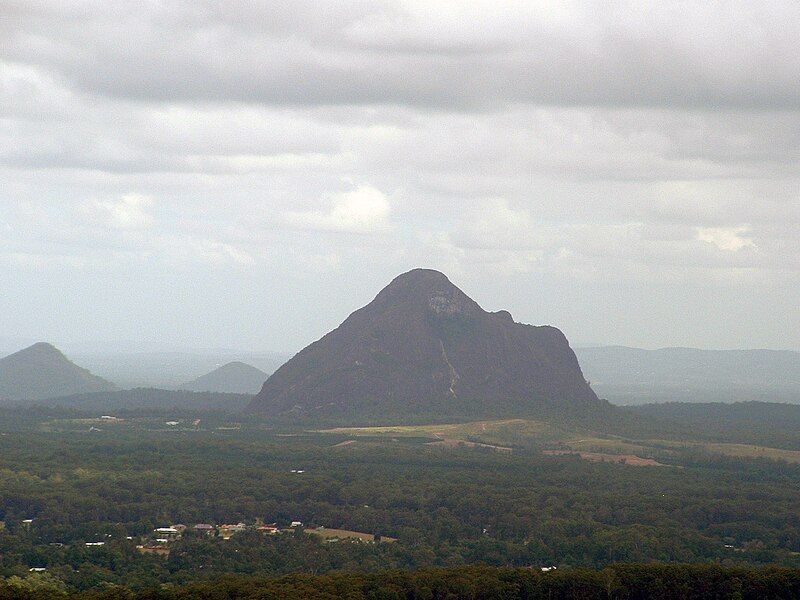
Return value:
<svg viewBox="0 0 800 600">
<path fill-rule="evenodd" d="M 798 184 L 794 0 L 0 0 L 0 337 L 295 351 L 424 266 L 800 349 Z"/>
</svg>

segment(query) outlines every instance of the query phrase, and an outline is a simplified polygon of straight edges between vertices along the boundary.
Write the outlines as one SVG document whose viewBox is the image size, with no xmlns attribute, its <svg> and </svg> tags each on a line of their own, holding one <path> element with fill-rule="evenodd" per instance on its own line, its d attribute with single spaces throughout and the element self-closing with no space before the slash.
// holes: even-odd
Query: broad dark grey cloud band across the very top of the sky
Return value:
<svg viewBox="0 0 800 600">
<path fill-rule="evenodd" d="M 0 48 L 85 90 L 163 102 L 800 106 L 796 3 L 545 6 L 98 3 L 12 14 Z"/>
</svg>

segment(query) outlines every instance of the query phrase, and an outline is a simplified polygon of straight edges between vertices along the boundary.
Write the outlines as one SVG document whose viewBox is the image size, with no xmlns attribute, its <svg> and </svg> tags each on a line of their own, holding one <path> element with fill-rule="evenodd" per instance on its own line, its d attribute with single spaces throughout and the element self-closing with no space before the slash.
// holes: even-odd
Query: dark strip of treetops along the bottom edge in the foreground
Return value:
<svg viewBox="0 0 800 600">
<path fill-rule="evenodd" d="M 800 597 L 800 569 L 723 568 L 713 565 L 613 565 L 602 571 L 466 567 L 290 575 L 281 578 L 224 577 L 133 592 L 109 587 L 67 592 L 46 575 L 0 583 L 0 600 L 762 600 Z"/>
</svg>

